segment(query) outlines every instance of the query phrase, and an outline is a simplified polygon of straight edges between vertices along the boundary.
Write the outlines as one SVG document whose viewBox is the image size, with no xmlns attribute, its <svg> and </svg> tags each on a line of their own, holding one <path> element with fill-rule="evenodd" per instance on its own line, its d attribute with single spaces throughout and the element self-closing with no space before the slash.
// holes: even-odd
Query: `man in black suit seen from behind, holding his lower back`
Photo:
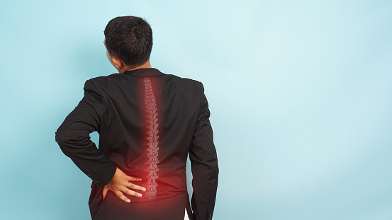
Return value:
<svg viewBox="0 0 392 220">
<path fill-rule="evenodd" d="M 87 80 L 84 98 L 55 132 L 63 153 L 93 180 L 91 218 L 212 219 L 218 159 L 203 84 L 152 68 L 144 19 L 113 18 L 104 34 L 118 74 Z"/>
</svg>

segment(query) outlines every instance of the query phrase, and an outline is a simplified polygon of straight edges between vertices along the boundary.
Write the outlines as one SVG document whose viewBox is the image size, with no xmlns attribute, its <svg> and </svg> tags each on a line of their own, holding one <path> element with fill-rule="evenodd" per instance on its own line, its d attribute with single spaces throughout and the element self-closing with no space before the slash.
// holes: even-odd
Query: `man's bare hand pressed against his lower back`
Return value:
<svg viewBox="0 0 392 220">
<path fill-rule="evenodd" d="M 116 169 L 116 173 L 114 173 L 113 178 L 111 179 L 111 182 L 105 185 L 102 191 L 103 199 L 105 199 L 106 194 L 108 193 L 108 190 L 111 190 L 114 192 L 114 194 L 117 195 L 118 198 L 125 202 L 130 202 L 130 199 L 125 197 L 123 195 L 123 192 L 125 192 L 128 195 L 132 195 L 135 197 L 142 197 L 142 195 L 138 192 L 135 192 L 133 190 L 130 190 L 128 188 L 132 188 L 134 190 L 141 190 L 145 192 L 145 187 L 141 187 L 139 185 L 135 185 L 133 183 L 129 183 L 128 181 L 140 181 L 142 178 L 134 178 L 129 175 L 126 175 L 123 170 L 120 170 L 119 168 Z"/>
</svg>

